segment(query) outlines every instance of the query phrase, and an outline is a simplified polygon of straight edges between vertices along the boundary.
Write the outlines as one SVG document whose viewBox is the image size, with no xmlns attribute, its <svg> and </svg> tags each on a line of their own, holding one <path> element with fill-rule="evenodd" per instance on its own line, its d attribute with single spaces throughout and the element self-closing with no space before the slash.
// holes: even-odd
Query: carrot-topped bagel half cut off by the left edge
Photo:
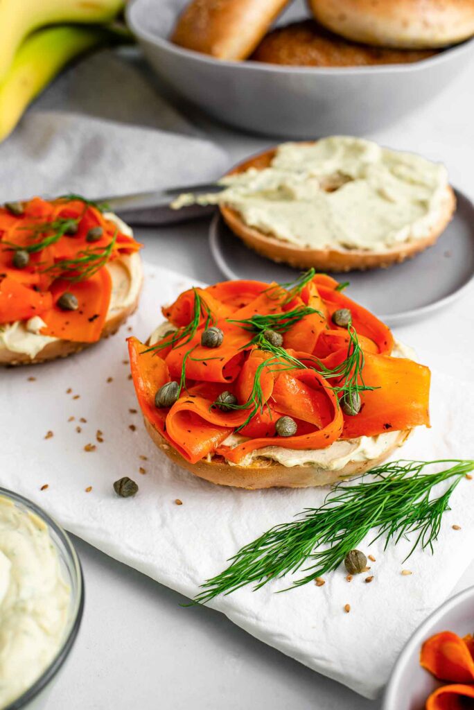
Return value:
<svg viewBox="0 0 474 710">
<path fill-rule="evenodd" d="M 131 229 L 77 195 L 0 208 L 0 364 L 64 357 L 116 332 L 138 305 Z"/>
</svg>

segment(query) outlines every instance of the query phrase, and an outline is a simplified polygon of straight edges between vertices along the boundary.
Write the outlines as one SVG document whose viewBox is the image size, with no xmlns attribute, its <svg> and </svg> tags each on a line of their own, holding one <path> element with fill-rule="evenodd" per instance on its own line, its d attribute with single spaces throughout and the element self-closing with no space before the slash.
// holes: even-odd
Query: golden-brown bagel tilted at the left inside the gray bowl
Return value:
<svg viewBox="0 0 474 710">
<path fill-rule="evenodd" d="M 171 40 L 217 59 L 246 59 L 288 0 L 192 0 Z"/>
</svg>

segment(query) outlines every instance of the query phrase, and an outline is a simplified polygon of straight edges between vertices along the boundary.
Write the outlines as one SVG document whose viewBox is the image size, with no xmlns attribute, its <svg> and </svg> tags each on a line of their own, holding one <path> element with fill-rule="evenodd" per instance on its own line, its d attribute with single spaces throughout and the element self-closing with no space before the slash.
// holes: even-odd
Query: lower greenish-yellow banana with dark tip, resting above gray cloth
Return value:
<svg viewBox="0 0 474 710">
<path fill-rule="evenodd" d="M 81 26 L 50 27 L 30 35 L 0 82 L 0 141 L 13 131 L 28 104 L 67 62 L 109 43 L 111 36 L 105 28 Z"/>
</svg>

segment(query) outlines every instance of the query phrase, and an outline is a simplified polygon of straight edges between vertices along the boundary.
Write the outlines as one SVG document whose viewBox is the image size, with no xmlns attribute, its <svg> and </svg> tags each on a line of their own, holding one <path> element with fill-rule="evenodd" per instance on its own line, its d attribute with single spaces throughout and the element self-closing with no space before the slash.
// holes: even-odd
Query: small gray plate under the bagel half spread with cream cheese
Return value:
<svg viewBox="0 0 474 710">
<path fill-rule="evenodd" d="M 430 249 L 402 264 L 374 271 L 334 274 L 351 282 L 351 297 L 390 325 L 412 322 L 451 303 L 474 278 L 474 204 L 456 191 L 458 209 Z M 228 278 L 293 280 L 297 269 L 248 249 L 216 215 L 209 231 L 211 252 Z"/>
</svg>

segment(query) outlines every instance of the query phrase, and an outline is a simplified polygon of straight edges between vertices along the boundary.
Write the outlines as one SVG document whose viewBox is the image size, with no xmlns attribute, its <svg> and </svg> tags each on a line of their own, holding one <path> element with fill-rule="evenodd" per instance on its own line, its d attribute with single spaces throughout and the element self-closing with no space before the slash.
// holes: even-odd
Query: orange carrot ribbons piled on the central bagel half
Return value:
<svg viewBox="0 0 474 710">
<path fill-rule="evenodd" d="M 333 319 L 341 309 L 351 312 L 349 327 Z M 429 369 L 392 356 L 390 329 L 328 276 L 189 289 L 163 315 L 172 332 L 165 327 L 158 342 L 128 339 L 131 372 L 146 419 L 191 463 L 217 456 L 238 464 L 271 445 L 324 449 L 429 426 Z M 214 347 L 202 344 L 209 327 L 222 334 Z M 170 381 L 177 400 L 156 406 Z M 354 391 L 360 406 L 347 413 L 341 405 Z M 231 405 L 222 408 L 224 392 Z M 277 435 L 282 416 L 294 420 L 294 435 Z M 239 438 L 226 441 L 231 434 Z"/>
</svg>

